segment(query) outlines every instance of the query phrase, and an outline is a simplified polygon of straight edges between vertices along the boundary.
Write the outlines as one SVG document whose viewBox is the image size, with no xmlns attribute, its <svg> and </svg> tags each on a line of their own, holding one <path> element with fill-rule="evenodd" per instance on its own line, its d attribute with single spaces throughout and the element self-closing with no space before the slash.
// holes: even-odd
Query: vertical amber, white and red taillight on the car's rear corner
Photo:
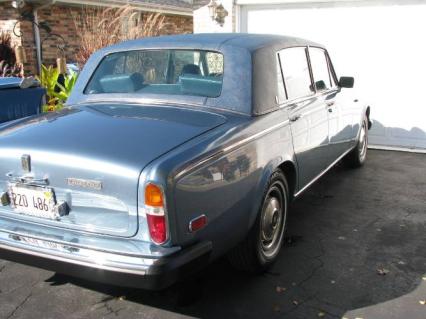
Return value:
<svg viewBox="0 0 426 319">
<path fill-rule="evenodd" d="M 164 244 L 167 240 L 164 194 L 157 185 L 148 184 L 145 187 L 145 212 L 152 241 Z"/>
</svg>

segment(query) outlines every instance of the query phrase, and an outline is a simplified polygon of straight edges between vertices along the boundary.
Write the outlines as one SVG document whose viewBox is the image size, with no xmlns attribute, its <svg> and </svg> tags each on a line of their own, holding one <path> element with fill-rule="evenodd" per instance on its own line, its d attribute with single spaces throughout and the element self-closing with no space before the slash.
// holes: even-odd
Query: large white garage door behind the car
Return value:
<svg viewBox="0 0 426 319">
<path fill-rule="evenodd" d="M 406 0 L 401 0 L 401 3 Z M 327 46 L 372 107 L 370 144 L 426 149 L 426 5 L 241 6 L 240 31 Z"/>
</svg>

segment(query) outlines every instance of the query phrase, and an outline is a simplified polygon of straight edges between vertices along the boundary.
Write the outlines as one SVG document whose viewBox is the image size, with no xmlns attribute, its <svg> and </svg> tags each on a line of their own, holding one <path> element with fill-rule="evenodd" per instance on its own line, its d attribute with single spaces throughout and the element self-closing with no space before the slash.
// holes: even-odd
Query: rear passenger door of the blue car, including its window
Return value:
<svg viewBox="0 0 426 319">
<path fill-rule="evenodd" d="M 315 94 L 308 48 L 281 50 L 279 60 L 299 170 L 299 189 L 302 189 L 321 174 L 328 162 L 327 109 L 323 99 Z"/>
</svg>

